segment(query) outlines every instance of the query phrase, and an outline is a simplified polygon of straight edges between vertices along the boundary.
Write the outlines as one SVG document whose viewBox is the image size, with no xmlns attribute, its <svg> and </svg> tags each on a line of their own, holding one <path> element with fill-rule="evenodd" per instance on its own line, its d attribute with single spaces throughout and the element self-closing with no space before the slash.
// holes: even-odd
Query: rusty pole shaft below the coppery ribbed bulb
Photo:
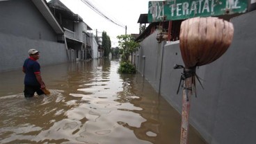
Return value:
<svg viewBox="0 0 256 144">
<path fill-rule="evenodd" d="M 189 71 L 189 69 L 184 69 L 184 71 Z M 182 127 L 180 144 L 189 143 L 189 111 L 190 111 L 190 98 L 192 95 L 192 84 L 193 77 L 186 78 L 184 80 L 184 87 L 182 93 Z"/>
</svg>

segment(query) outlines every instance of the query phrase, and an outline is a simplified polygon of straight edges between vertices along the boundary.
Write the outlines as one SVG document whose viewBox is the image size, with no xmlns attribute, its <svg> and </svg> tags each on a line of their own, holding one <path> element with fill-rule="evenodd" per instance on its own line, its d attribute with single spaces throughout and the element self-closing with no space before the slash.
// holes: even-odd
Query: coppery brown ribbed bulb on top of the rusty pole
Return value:
<svg viewBox="0 0 256 144">
<path fill-rule="evenodd" d="M 186 68 L 217 60 L 227 51 L 233 34 L 233 24 L 216 17 L 195 17 L 182 21 L 179 44 Z"/>
</svg>

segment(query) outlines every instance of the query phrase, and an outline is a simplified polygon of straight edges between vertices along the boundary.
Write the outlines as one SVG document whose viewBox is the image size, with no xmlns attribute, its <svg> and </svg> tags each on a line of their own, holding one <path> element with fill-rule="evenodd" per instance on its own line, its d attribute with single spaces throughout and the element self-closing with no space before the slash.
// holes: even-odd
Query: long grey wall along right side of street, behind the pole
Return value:
<svg viewBox="0 0 256 144">
<path fill-rule="evenodd" d="M 198 97 L 195 98 L 194 94 L 191 98 L 190 123 L 208 143 L 240 144 L 256 141 L 255 18 L 256 11 L 233 18 L 234 39 L 230 48 L 215 62 L 196 69 L 205 89 L 197 82 Z M 145 78 L 170 105 L 181 112 L 182 89 L 179 94 L 176 92 L 182 69 L 173 69 L 174 64 L 183 64 L 179 42 L 161 48 L 156 46 L 155 36 L 156 33 L 147 37 L 136 53 L 146 57 L 145 60 L 138 59 L 138 71 L 143 74 L 141 64 L 145 61 Z M 161 49 L 163 63 L 159 68 Z M 160 81 L 157 75 L 161 75 L 160 89 L 157 89 L 158 78 Z"/>
</svg>

